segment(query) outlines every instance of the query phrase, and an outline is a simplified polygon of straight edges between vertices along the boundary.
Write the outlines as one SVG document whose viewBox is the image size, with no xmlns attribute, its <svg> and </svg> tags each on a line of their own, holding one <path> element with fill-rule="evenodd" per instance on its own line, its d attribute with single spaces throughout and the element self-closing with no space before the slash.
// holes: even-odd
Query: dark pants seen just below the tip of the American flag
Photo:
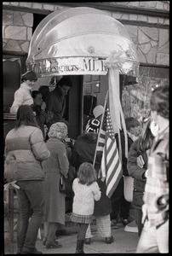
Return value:
<svg viewBox="0 0 172 256">
<path fill-rule="evenodd" d="M 111 219 L 118 218 L 129 218 L 129 207 L 130 202 L 126 201 L 123 195 L 123 186 L 124 181 L 123 177 L 120 179 L 118 183 L 117 189 L 113 192 L 111 201 L 112 201 L 112 213 Z"/>
</svg>

